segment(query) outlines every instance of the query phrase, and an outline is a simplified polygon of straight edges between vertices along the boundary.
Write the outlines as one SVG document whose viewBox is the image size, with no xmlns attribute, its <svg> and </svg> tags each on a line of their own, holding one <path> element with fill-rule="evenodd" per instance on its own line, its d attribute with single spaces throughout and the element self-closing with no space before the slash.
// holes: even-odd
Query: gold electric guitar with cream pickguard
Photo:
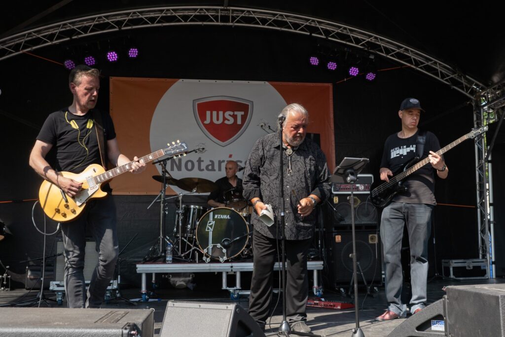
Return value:
<svg viewBox="0 0 505 337">
<path fill-rule="evenodd" d="M 188 151 L 186 144 L 179 142 L 179 140 L 168 145 L 168 148 L 139 158 L 139 161 L 148 163 L 163 156 L 175 156 Z M 81 190 L 74 197 L 69 197 L 58 185 L 44 180 L 38 191 L 40 206 L 44 213 L 55 221 L 66 222 L 74 220 L 84 210 L 87 201 L 107 196 L 107 192 L 100 189 L 102 184 L 107 183 L 122 173 L 130 171 L 132 164 L 133 162 L 129 162 L 109 171 L 106 171 L 102 165 L 91 164 L 79 174 L 60 172 L 65 178 L 82 182 Z"/>
</svg>

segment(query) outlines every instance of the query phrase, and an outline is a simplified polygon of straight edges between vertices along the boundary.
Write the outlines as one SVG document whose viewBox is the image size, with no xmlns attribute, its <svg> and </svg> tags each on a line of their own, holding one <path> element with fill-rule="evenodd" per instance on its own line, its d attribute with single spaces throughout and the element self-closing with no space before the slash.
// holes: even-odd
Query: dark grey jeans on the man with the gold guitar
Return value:
<svg viewBox="0 0 505 337">
<path fill-rule="evenodd" d="M 62 224 L 65 246 L 65 292 L 69 308 L 99 308 L 118 259 L 116 205 L 111 196 L 87 203 L 75 220 Z M 98 263 L 90 280 L 84 279 L 86 228 L 96 242 Z M 85 281 L 90 281 L 86 293 Z"/>
</svg>

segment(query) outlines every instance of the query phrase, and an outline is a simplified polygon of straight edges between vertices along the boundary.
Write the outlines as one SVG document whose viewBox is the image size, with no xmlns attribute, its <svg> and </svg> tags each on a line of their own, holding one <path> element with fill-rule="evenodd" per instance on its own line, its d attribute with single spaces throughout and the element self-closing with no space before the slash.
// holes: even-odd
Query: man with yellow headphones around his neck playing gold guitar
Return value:
<svg viewBox="0 0 505 337">
<path fill-rule="evenodd" d="M 62 171 L 77 173 L 90 164 L 106 166 L 107 163 L 103 161 L 107 160 L 114 166 L 127 165 L 132 173 L 140 173 L 145 169 L 143 160 L 135 157 L 130 164 L 130 160 L 119 151 L 111 117 L 93 111 L 100 87 L 99 71 L 84 65 L 75 67 L 70 72 L 69 87 L 73 94 L 72 105 L 47 117 L 30 154 L 30 166 L 55 188 L 61 189 L 62 196 L 67 200 L 85 190 L 85 186 L 82 181 L 64 176 Z M 103 141 L 99 140 L 102 137 Z M 104 143 L 103 147 L 100 143 Z M 45 160 L 52 148 L 56 150 L 54 168 Z M 72 211 L 76 212 L 71 207 L 66 209 L 62 206 L 61 210 L 58 209 L 60 214 L 68 212 L 71 215 Z M 99 249 L 98 264 L 91 280 L 85 280 L 83 274 L 86 227 Z M 61 228 L 68 306 L 98 308 L 114 275 L 118 257 L 114 201 L 110 196 L 89 201 L 77 219 L 62 223 Z M 90 281 L 87 293 L 85 281 Z"/>
</svg>

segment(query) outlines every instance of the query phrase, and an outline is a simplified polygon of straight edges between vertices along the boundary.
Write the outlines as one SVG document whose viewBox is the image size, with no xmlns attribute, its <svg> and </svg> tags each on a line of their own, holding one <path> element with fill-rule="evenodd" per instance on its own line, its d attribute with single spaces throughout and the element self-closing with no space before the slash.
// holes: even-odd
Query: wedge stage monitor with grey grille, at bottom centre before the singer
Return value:
<svg viewBox="0 0 505 337">
<path fill-rule="evenodd" d="M 160 337 L 265 336 L 260 326 L 236 303 L 169 301 Z"/>
</svg>

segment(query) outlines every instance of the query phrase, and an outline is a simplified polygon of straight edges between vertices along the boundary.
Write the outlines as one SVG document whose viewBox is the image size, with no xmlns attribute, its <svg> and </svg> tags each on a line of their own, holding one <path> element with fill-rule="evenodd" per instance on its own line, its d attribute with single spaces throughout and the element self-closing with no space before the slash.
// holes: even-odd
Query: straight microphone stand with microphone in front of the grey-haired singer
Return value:
<svg viewBox="0 0 505 337">
<path fill-rule="evenodd" d="M 286 302 L 287 302 L 287 294 L 286 294 L 286 231 L 285 231 L 285 204 L 284 204 L 284 163 L 283 163 L 283 140 L 282 140 L 282 124 L 284 123 L 286 117 L 283 115 L 279 115 L 279 180 L 280 180 L 280 186 L 279 188 L 279 198 L 281 200 L 280 203 L 280 214 L 281 216 L 278 217 L 277 221 L 280 221 L 280 227 L 281 227 L 281 255 L 282 255 L 282 322 L 279 326 L 278 332 L 274 333 L 269 333 L 267 335 L 282 335 L 282 336 L 289 336 L 290 334 L 296 334 L 300 336 L 314 336 L 314 337 L 321 337 L 319 334 L 314 334 L 314 333 L 307 333 L 307 332 L 300 332 L 300 331 L 292 331 L 291 326 L 289 326 L 289 323 L 287 321 L 287 316 L 286 316 Z"/>
</svg>

